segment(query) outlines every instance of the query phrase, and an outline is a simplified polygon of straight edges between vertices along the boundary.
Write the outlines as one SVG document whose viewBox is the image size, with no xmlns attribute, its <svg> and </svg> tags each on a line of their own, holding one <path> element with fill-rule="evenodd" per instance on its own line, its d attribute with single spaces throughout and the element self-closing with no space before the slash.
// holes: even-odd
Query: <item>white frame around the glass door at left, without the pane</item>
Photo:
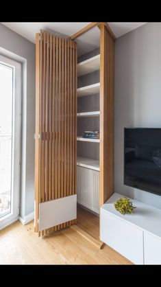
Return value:
<svg viewBox="0 0 161 287">
<path fill-rule="evenodd" d="M 0 54 L 1 64 L 13 69 L 11 211 L 0 218 L 0 230 L 18 220 L 21 176 L 21 62 Z"/>
</svg>

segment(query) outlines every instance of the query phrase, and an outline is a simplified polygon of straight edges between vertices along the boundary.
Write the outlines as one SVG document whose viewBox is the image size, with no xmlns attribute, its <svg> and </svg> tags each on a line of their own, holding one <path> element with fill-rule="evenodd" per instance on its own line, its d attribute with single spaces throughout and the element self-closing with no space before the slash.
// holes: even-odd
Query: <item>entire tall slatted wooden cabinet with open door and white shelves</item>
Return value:
<svg viewBox="0 0 161 287">
<path fill-rule="evenodd" d="M 100 47 L 93 50 L 91 45 L 82 47 L 77 60 L 77 45 L 73 40 L 96 25 Z M 106 22 L 90 23 L 68 39 L 58 39 L 47 32 L 36 34 L 34 229 L 41 236 L 75 223 L 75 200 L 99 214 L 100 206 L 114 192 L 114 40 Z M 57 43 L 56 49 L 51 42 Z M 44 73 L 44 62 L 47 73 Z M 52 62 L 51 69 L 48 69 L 49 62 Z M 46 87 L 54 91 L 53 95 L 44 93 Z M 56 105 L 49 105 L 50 102 Z M 52 131 L 49 122 L 55 122 Z M 40 134 L 43 137 L 39 138 Z M 55 137 L 51 141 L 53 135 L 56 135 L 56 145 Z M 86 135 L 91 138 L 84 138 Z M 93 139 L 91 135 L 101 139 Z M 42 185 L 43 174 L 46 175 Z M 58 184 L 53 185 L 51 194 L 53 178 Z M 46 196 L 49 201 L 44 209 Z M 64 202 L 66 208 L 60 212 Z M 109 226 L 108 221 L 105 226 Z"/>
</svg>

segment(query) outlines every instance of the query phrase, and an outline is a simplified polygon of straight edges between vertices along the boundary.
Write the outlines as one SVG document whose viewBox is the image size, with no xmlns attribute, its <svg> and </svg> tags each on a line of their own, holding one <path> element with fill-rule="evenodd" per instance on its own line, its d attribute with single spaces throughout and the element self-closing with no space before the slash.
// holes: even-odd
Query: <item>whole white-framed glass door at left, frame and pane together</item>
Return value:
<svg viewBox="0 0 161 287">
<path fill-rule="evenodd" d="M 0 54 L 0 230 L 18 219 L 21 173 L 21 63 Z"/>
</svg>

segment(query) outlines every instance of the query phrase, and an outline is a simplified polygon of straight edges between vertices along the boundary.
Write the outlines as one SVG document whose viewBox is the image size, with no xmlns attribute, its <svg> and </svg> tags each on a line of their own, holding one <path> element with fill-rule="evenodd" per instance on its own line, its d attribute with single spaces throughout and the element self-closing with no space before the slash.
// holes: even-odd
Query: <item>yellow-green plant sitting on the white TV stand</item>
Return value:
<svg viewBox="0 0 161 287">
<path fill-rule="evenodd" d="M 117 211 L 119 211 L 121 214 L 132 214 L 133 209 L 136 208 L 132 205 L 132 200 L 129 198 L 123 197 L 116 200 L 114 203 L 114 207 Z"/>
</svg>

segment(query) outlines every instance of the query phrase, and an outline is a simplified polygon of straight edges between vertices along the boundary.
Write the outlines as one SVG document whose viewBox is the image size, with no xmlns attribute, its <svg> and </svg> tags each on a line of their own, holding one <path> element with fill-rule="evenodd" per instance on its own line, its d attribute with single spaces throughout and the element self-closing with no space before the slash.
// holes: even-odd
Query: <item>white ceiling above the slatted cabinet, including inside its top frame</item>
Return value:
<svg viewBox="0 0 161 287">
<path fill-rule="evenodd" d="M 1 22 L 6 27 L 20 34 L 27 40 L 35 43 L 35 34 L 40 32 L 40 29 L 48 32 L 53 32 L 55 35 L 69 36 L 75 34 L 90 22 Z M 112 22 L 108 23 L 114 32 L 116 38 L 126 34 L 129 31 L 144 25 L 146 22 Z M 99 47 L 99 29 L 94 27 L 77 38 L 77 54 L 78 56 Z"/>
</svg>

